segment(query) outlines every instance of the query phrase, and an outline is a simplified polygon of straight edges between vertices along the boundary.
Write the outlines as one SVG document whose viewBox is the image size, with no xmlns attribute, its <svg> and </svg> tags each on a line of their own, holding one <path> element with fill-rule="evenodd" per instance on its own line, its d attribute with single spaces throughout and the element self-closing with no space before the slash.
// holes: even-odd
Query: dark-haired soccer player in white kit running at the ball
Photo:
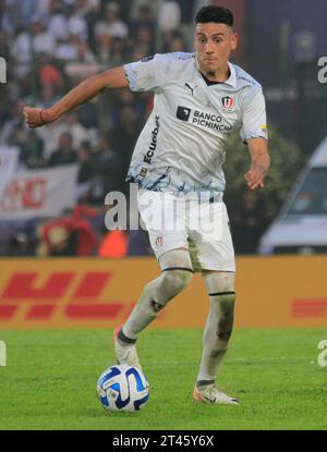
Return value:
<svg viewBox="0 0 327 452">
<path fill-rule="evenodd" d="M 249 190 L 264 186 L 270 164 L 262 87 L 229 62 L 237 45 L 232 13 L 221 7 L 204 7 L 196 15 L 194 53 L 156 54 L 111 69 L 85 80 L 48 109 L 24 109 L 27 124 L 37 127 L 105 89 L 155 93 L 154 109 L 136 143 L 126 180 L 138 184 L 138 209 L 161 273 L 144 288 L 130 317 L 116 330 L 116 356 L 120 364 L 141 367 L 136 353 L 140 332 L 190 284 L 193 272 L 201 271 L 209 314 L 193 398 L 211 404 L 239 403 L 216 384 L 235 302 L 234 252 L 222 201 L 222 164 L 230 134 L 239 130 L 247 145 L 251 166 L 244 178 Z M 202 201 L 203 194 L 208 196 Z M 196 199 L 201 204 L 197 210 Z M 183 213 L 185 200 L 191 203 L 191 219 L 199 216 L 197 227 L 191 227 L 190 217 Z M 175 207 L 178 228 L 153 221 Z M 215 234 L 207 233 L 204 225 L 216 227 Z"/>
</svg>

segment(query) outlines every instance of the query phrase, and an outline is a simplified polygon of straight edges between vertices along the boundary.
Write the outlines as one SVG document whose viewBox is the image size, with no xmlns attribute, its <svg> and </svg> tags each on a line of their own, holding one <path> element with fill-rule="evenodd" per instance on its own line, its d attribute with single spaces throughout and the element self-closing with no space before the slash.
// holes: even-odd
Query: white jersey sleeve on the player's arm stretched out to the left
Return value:
<svg viewBox="0 0 327 452">
<path fill-rule="evenodd" d="M 165 85 L 169 72 L 168 54 L 157 53 L 135 63 L 124 64 L 132 91 L 156 90 Z"/>
</svg>

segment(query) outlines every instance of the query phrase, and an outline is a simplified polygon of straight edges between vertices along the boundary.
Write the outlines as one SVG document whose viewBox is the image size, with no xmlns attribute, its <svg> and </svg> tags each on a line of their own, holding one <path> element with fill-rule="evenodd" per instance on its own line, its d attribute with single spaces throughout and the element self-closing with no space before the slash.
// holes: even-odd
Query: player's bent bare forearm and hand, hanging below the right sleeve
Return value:
<svg viewBox="0 0 327 452">
<path fill-rule="evenodd" d="M 270 167 L 268 142 L 264 138 L 252 138 L 247 141 L 247 146 L 252 162 L 244 178 L 250 190 L 262 188 Z"/>
</svg>

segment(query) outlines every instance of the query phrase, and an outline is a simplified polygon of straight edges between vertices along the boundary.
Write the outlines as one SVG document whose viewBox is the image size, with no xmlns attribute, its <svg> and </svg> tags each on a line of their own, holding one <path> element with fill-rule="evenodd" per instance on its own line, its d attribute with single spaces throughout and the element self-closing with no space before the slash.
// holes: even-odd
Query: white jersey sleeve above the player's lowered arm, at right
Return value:
<svg viewBox="0 0 327 452">
<path fill-rule="evenodd" d="M 268 139 L 266 102 L 262 88 L 251 89 L 243 99 L 242 129 L 243 142 L 251 138 Z"/>
</svg>

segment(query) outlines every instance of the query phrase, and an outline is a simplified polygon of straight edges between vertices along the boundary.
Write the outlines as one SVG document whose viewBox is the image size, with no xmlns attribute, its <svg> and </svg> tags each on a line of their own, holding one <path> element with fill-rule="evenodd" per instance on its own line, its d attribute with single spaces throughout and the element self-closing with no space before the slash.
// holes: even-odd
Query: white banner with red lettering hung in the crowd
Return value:
<svg viewBox="0 0 327 452">
<path fill-rule="evenodd" d="M 20 171 L 0 196 L 0 218 L 58 217 L 76 205 L 76 164 Z"/>
</svg>

